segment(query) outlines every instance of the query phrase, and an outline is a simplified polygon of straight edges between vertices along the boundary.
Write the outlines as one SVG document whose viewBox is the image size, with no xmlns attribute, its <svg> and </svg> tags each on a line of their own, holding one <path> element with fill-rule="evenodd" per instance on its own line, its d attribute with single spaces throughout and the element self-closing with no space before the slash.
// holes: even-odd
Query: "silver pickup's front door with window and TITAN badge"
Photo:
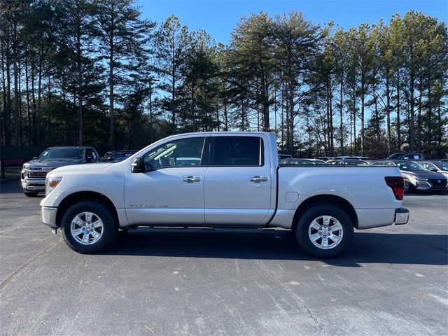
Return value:
<svg viewBox="0 0 448 336">
<path fill-rule="evenodd" d="M 204 225 L 206 139 L 168 140 L 141 157 L 148 172 L 130 172 L 125 182 L 130 225 Z"/>
</svg>

